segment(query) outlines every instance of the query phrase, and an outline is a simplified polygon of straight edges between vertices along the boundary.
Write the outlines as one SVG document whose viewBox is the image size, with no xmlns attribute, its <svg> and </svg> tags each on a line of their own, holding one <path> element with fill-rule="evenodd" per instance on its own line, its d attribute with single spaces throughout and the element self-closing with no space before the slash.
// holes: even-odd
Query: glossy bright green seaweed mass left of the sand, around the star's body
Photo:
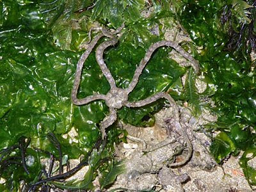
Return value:
<svg viewBox="0 0 256 192">
<path fill-rule="evenodd" d="M 159 10 L 152 17 L 144 19 L 138 17 L 136 7 L 138 3 L 142 4 L 142 1 L 122 3 L 127 28 L 120 39 L 120 44 L 108 49 L 104 58 L 116 84 L 125 88 L 132 79 L 136 65 L 143 58 L 145 49 L 163 37 L 162 31 L 160 36 L 157 36 L 146 30 L 145 26 L 153 28 L 157 24 L 161 29 L 163 24 L 159 19 L 172 17 L 172 13 Z M 74 106 L 70 100 L 76 63 L 83 53 L 81 45 L 88 40 L 88 29 L 94 25 L 90 19 L 94 11 L 83 11 L 83 8 L 90 5 L 92 2 L 89 1 L 63 0 L 0 2 L 0 93 L 4 98 L 0 100 L 0 148 L 15 145 L 23 136 L 30 138 L 28 154 L 37 154 L 38 164 L 29 168 L 29 175 L 24 175 L 24 170 L 19 164 L 10 164 L 4 168 L 1 177 L 9 179 L 0 185 L 3 191 L 18 189 L 20 179 L 24 179 L 25 184 L 36 182 L 42 168 L 39 160 L 43 157 L 49 158 L 35 150 L 36 148 L 59 157 L 57 145 L 47 139 L 49 132 L 53 132 L 60 142 L 63 158 L 66 160 L 86 155 L 100 138 L 99 123 L 108 113 L 106 104 L 99 100 L 84 106 Z M 142 5 L 139 8 L 141 9 Z M 104 20 L 102 13 L 99 12 L 93 19 L 100 24 L 109 21 L 116 28 L 124 20 L 118 20 L 120 17 L 115 17 L 115 14 L 107 15 Z M 75 24 L 77 26 L 74 26 Z M 130 100 L 143 99 L 154 93 L 167 91 L 184 74 L 184 68 L 167 58 L 170 51 L 169 48 L 156 51 L 141 75 L 140 83 L 129 95 Z M 95 60 L 95 52 L 92 52 L 84 63 L 78 97 L 86 97 L 95 92 L 105 94 L 108 90 L 108 81 L 102 77 Z M 163 101 L 141 109 L 124 108 L 119 111 L 118 118 L 135 125 L 153 125 L 152 115 L 162 107 Z M 78 143 L 70 143 L 72 138 L 67 133 L 72 127 L 77 132 L 75 138 Z M 102 159 L 113 158 L 113 143 L 125 141 L 125 138 L 119 138 L 121 133 L 127 134 L 117 129 L 116 125 L 109 127 L 107 150 L 101 155 L 93 152 L 90 156 L 90 161 L 94 163 L 87 175 L 93 174 L 93 177 L 86 176 L 83 181 L 74 181 L 72 185 L 77 184 L 77 188 L 91 189 L 91 182 L 97 175 L 97 169 L 106 172 L 116 166 L 113 159 L 109 161 L 111 164 L 108 161 L 103 162 Z M 66 160 L 64 162 L 63 159 L 63 164 L 67 163 Z M 111 184 L 118 173 L 120 172 L 115 172 L 108 182 L 102 180 L 102 188 Z M 12 179 L 10 175 L 13 175 Z M 88 182 L 85 182 L 86 180 Z M 55 181 L 52 184 L 58 188 L 65 188 Z"/>
</svg>

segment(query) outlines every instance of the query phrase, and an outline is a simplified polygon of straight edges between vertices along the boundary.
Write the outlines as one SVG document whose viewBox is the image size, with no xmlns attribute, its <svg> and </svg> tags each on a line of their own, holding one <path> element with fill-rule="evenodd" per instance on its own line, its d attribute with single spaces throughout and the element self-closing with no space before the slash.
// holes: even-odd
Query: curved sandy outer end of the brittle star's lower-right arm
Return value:
<svg viewBox="0 0 256 192">
<path fill-rule="evenodd" d="M 188 160 L 190 159 L 190 157 L 192 156 L 193 145 L 192 145 L 191 141 L 189 140 L 188 133 L 186 131 L 186 126 L 183 127 L 183 129 L 182 129 L 182 127 L 180 125 L 180 122 L 177 122 L 177 121 L 174 121 L 173 125 L 175 126 L 175 129 L 177 129 L 180 132 L 180 134 L 182 134 L 182 137 L 184 138 L 184 140 L 187 144 L 188 154 L 182 161 L 177 162 L 177 163 L 171 163 L 171 164 L 168 164 L 168 165 L 169 166 L 180 166 L 182 164 L 187 163 Z"/>
</svg>

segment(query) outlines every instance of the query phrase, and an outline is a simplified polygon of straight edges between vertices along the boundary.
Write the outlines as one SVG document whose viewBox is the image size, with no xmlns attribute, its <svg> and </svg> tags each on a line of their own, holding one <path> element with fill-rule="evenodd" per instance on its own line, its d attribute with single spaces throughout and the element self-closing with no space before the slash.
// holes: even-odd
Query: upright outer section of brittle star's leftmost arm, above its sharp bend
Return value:
<svg viewBox="0 0 256 192">
<path fill-rule="evenodd" d="M 79 99 L 77 99 L 77 92 L 78 92 L 79 84 L 81 81 L 81 72 L 83 69 L 84 61 L 88 58 L 88 56 L 90 55 L 90 53 L 93 50 L 93 47 L 95 47 L 95 45 L 97 44 L 97 42 L 99 41 L 99 39 L 102 36 L 104 36 L 102 33 L 95 36 L 95 38 L 92 40 L 92 42 L 90 42 L 90 44 L 88 45 L 88 49 L 82 54 L 79 61 L 77 62 L 75 80 L 74 80 L 74 85 L 73 85 L 72 92 L 71 92 L 71 99 L 74 104 L 76 104 L 77 100 L 79 100 Z M 79 104 L 79 102 L 77 104 Z"/>
</svg>

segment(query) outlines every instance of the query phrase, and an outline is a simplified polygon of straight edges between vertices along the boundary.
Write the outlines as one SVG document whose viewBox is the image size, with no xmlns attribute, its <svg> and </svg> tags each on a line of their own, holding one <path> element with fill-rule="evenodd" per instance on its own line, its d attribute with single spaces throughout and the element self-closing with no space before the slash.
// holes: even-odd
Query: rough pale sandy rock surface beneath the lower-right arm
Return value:
<svg viewBox="0 0 256 192">
<path fill-rule="evenodd" d="M 186 105 L 185 105 L 186 106 Z M 173 132 L 168 136 L 161 127 L 167 116 L 172 116 L 172 109 L 163 109 L 156 116 L 154 127 L 133 127 L 124 125 L 129 134 L 147 143 L 129 140 L 116 146 L 118 159 L 126 159 L 127 172 L 119 175 L 111 189 L 125 188 L 129 191 L 154 189 L 156 191 L 218 191 L 230 189 L 253 191 L 239 167 L 237 157 L 230 157 L 222 166 L 215 163 L 209 154 L 211 139 L 200 127 L 216 120 L 209 111 L 203 111 L 199 118 L 194 118 L 188 108 L 180 107 L 183 122 L 188 122 L 189 138 L 193 143 L 193 156 L 189 162 L 179 168 L 168 168 L 175 152 L 183 145 L 182 138 Z M 147 151 L 147 152 L 146 152 Z M 184 152 L 186 154 L 186 152 Z M 176 161 L 182 161 L 183 154 Z M 110 190 L 110 189 L 109 189 Z"/>
</svg>

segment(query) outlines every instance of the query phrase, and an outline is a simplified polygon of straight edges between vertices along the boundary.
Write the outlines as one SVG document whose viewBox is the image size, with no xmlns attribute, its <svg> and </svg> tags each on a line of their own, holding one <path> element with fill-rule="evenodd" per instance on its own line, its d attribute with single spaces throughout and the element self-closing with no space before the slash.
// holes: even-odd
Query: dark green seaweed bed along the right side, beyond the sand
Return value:
<svg viewBox="0 0 256 192">
<path fill-rule="evenodd" d="M 246 166 L 249 159 L 244 157 L 255 143 L 255 134 L 249 129 L 256 128 L 255 70 L 250 55 L 244 54 L 244 49 L 241 51 L 247 44 L 246 38 L 239 42 L 241 45 L 230 49 L 233 37 L 221 24 L 223 9 L 230 4 L 234 14 L 230 24 L 236 23 L 240 29 L 244 22 L 249 22 L 248 8 L 252 6 L 248 3 L 252 5 L 252 1 L 188 1 L 179 19 L 196 45 L 202 46 L 196 58 L 200 61 L 205 82 L 214 87 L 208 97 L 214 100 L 216 108 L 212 111 L 218 115 L 218 122 L 210 127 L 221 132 L 212 139 L 212 155 L 221 163 L 230 154 L 244 151 L 241 167 L 249 183 L 255 184 L 256 170 Z M 254 18 L 254 11 L 252 13 Z M 248 31 L 244 35 L 248 35 Z"/>
</svg>

